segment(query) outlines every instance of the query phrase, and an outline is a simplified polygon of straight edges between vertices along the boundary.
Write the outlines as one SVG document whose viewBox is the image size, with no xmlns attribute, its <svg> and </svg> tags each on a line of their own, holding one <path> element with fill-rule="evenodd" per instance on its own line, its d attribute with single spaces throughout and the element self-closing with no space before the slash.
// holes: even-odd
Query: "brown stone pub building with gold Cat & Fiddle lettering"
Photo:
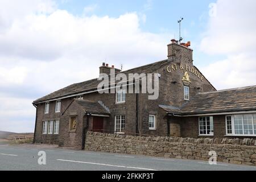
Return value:
<svg viewBox="0 0 256 182">
<path fill-rule="evenodd" d="M 256 86 L 216 90 L 193 65 L 190 42 L 168 44 L 166 60 L 122 71 L 103 63 L 100 73 L 158 73 L 159 97 L 100 94 L 98 78 L 69 85 L 33 102 L 35 143 L 84 148 L 87 131 L 191 138 L 256 138 Z"/>
</svg>

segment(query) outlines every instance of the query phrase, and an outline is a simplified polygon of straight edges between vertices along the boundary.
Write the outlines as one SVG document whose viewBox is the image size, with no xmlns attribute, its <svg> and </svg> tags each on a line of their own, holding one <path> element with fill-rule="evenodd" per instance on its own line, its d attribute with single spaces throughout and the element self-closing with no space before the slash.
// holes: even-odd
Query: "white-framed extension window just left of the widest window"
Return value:
<svg viewBox="0 0 256 182">
<path fill-rule="evenodd" d="M 213 136 L 213 117 L 199 117 L 199 135 Z"/>
</svg>

